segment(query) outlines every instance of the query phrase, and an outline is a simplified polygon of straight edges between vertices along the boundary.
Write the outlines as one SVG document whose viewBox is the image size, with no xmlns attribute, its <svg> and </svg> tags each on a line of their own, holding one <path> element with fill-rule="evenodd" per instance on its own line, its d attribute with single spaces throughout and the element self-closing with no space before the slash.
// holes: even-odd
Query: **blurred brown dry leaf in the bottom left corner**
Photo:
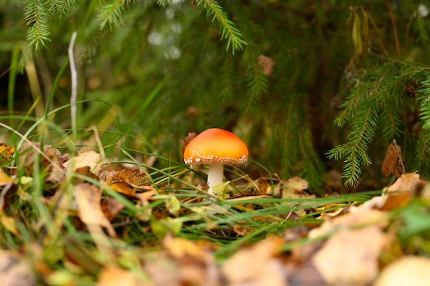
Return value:
<svg viewBox="0 0 430 286">
<path fill-rule="evenodd" d="M 1 286 L 36 285 L 30 263 L 14 252 L 0 250 Z"/>
</svg>

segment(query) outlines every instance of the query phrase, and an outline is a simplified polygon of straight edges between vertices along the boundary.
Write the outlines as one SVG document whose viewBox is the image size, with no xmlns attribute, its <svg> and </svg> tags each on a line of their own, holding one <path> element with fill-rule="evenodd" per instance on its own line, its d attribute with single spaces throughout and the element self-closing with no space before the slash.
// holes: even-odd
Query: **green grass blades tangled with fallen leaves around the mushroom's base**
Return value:
<svg viewBox="0 0 430 286">
<path fill-rule="evenodd" d="M 47 114 L 51 116 L 68 107 L 60 107 Z M 148 250 L 161 250 L 163 238 L 170 234 L 190 241 L 210 241 L 216 247 L 214 255 L 220 263 L 239 248 L 262 241 L 267 236 L 280 235 L 300 225 L 319 223 L 315 220 L 319 213 L 337 208 L 315 211 L 318 206 L 361 203 L 374 195 L 360 193 L 315 199 L 259 196 L 209 201 L 205 191 L 196 186 L 196 181 L 201 181 L 205 176 L 203 170 L 193 170 L 182 162 L 157 155 L 157 149 L 144 140 L 142 144 L 149 149 L 146 152 L 126 148 L 121 142 L 139 138 L 115 130 L 105 130 L 98 138 L 102 146 L 92 147 L 98 150 L 106 146 L 104 153 L 109 158 L 106 168 L 127 162 L 144 170 L 145 184 L 157 190 L 155 195 L 146 201 L 139 201 L 113 190 L 111 184 L 91 173 L 67 170 L 64 170 L 65 177 L 61 181 L 50 183 L 47 177 L 52 170 L 46 164 L 47 159 L 40 155 L 41 151 L 34 151 L 40 147 L 34 143 L 41 139 L 45 140 L 45 146 L 54 142 L 60 150 L 73 156 L 79 153 L 78 147 L 85 146 L 85 138 L 78 138 L 77 142 L 66 145 L 64 142 L 70 142 L 67 138 L 71 131 L 60 129 L 52 122 L 47 123 L 43 118 L 2 117 L 5 118 L 19 122 L 18 126 L 29 123 L 30 126 L 21 135 L 11 126 L 1 124 L 10 133 L 18 151 L 12 158 L 3 157 L 3 170 L 16 177 L 13 177 L 10 187 L 3 184 L 7 206 L 0 217 L 0 245 L 3 250 L 24 253 L 30 258 L 38 278 L 47 284 L 73 280 L 78 281 L 78 285 L 91 285 L 95 283 L 98 273 L 112 264 L 127 270 L 139 269 L 139 263 L 146 254 L 139 255 Z M 41 138 L 36 133 L 40 124 L 46 124 L 49 129 Z M 84 135 L 82 132 L 78 134 Z M 20 139 L 13 140 L 18 135 Z M 115 140 L 111 141 L 112 138 Z M 116 144 L 106 144 L 106 140 Z M 33 144 L 31 160 L 25 159 L 28 153 L 19 152 L 27 142 Z M 48 153 L 45 151 L 45 156 L 49 156 Z M 150 156 L 157 158 L 156 164 L 148 165 L 135 159 Z M 230 188 L 231 195 L 242 195 L 245 190 L 255 188 L 256 183 L 240 170 L 229 170 L 237 178 L 234 188 Z M 102 201 L 109 198 L 122 204 L 122 209 L 111 221 L 116 237 L 109 236 L 106 228 L 101 232 L 101 228 L 91 230 L 91 223 L 82 221 L 78 213 L 81 210 L 76 208 L 75 189 L 82 182 L 100 188 Z M 275 183 L 273 180 L 270 184 Z M 134 189 L 133 192 L 142 191 Z M 291 213 L 299 210 L 305 210 L 306 214 L 288 219 Z M 294 243 L 286 243 L 282 249 L 286 251 Z M 306 239 L 301 243 L 306 243 Z"/>
</svg>

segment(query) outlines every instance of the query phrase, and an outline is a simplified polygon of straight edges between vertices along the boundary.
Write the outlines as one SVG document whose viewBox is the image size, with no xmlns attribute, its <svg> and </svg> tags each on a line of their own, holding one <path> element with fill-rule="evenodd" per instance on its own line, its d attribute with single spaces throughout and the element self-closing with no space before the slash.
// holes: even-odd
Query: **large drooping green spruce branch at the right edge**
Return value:
<svg viewBox="0 0 430 286">
<path fill-rule="evenodd" d="M 347 100 L 341 104 L 343 109 L 335 120 L 337 126 L 351 122 L 348 143 L 335 146 L 328 152 L 330 159 L 344 158 L 343 177 L 345 184 L 354 186 L 361 177 L 361 166 L 369 166 L 372 159 L 367 154 L 376 133 L 381 134 L 385 142 L 399 139 L 403 135 L 401 116 L 409 111 L 413 104 L 405 93 L 405 87 L 414 86 L 417 81 L 429 76 L 429 67 L 421 67 L 400 61 L 385 61 L 376 68 L 365 72 L 361 83 L 354 87 Z M 415 97 L 415 94 L 412 96 Z M 414 107 L 412 107 L 414 108 Z M 429 118 L 422 117 L 423 128 Z M 427 161 L 429 153 L 423 144 L 418 144 L 422 152 L 421 160 Z M 422 164 L 416 164 L 419 170 Z M 427 172 L 424 172 L 427 175 Z"/>
</svg>

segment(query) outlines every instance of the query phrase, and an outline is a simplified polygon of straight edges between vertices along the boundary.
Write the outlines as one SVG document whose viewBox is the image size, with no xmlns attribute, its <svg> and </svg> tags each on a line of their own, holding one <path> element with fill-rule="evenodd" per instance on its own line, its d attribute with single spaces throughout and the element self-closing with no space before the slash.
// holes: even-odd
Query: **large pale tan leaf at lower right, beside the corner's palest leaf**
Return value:
<svg viewBox="0 0 430 286">
<path fill-rule="evenodd" d="M 366 285 L 378 274 L 385 235 L 376 226 L 339 230 L 313 256 L 313 264 L 330 285 Z"/>
</svg>

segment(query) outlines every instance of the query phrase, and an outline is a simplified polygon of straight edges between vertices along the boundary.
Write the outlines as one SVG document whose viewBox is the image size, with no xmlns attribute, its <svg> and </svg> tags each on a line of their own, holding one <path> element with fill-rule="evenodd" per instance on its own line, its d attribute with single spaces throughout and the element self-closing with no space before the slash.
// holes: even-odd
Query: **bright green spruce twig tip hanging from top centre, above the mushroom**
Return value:
<svg viewBox="0 0 430 286">
<path fill-rule="evenodd" d="M 228 19 L 227 14 L 223 8 L 218 4 L 216 0 L 197 0 L 197 5 L 203 6 L 206 10 L 206 15 L 214 15 L 215 19 L 218 20 L 221 32 L 221 40 L 227 39 L 226 50 L 229 50 L 231 45 L 231 53 L 234 54 L 237 50 L 242 50 L 247 43 L 242 39 L 242 34 L 234 23 Z"/>
</svg>

